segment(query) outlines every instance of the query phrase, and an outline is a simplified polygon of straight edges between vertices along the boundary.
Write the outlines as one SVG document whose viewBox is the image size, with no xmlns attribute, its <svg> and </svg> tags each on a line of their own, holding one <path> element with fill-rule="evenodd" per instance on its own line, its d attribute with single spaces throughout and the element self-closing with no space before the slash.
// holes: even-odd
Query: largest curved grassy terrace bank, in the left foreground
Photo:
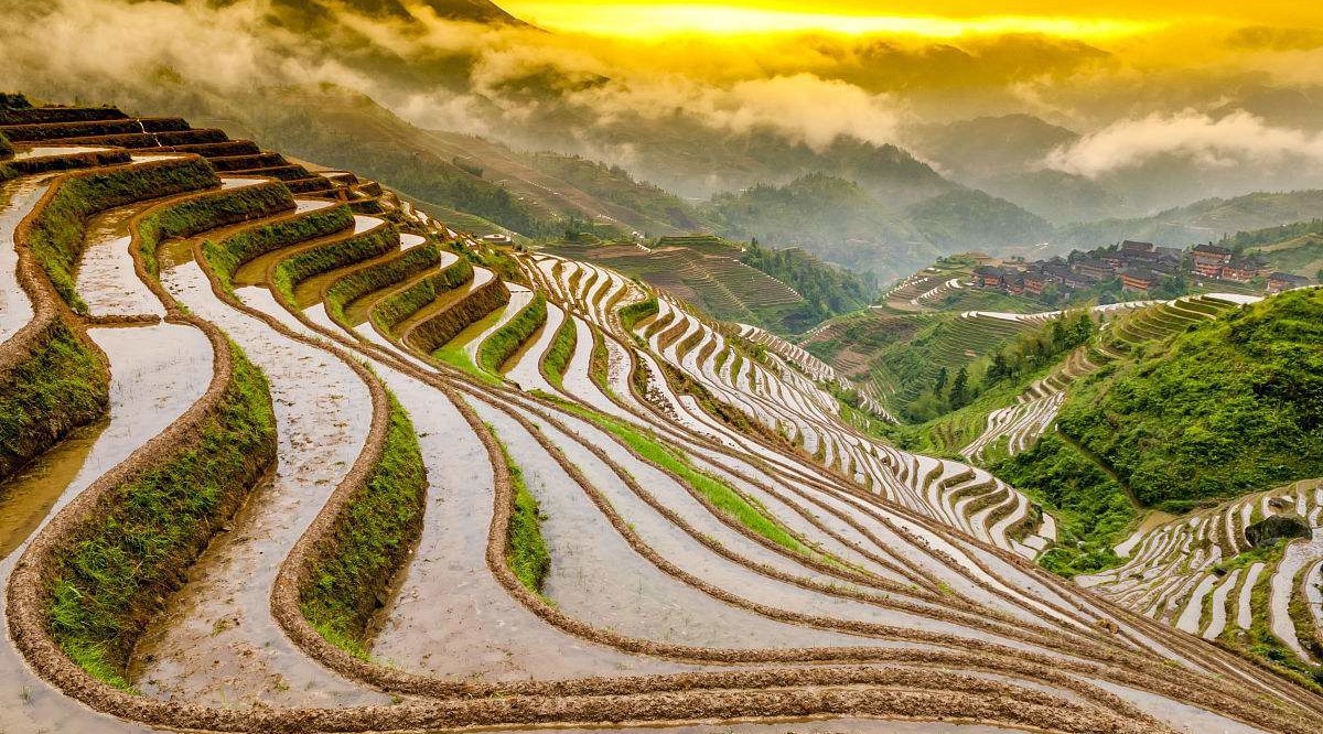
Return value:
<svg viewBox="0 0 1323 734">
<path fill-rule="evenodd" d="M 89 673 L 128 689 L 148 620 L 275 458 L 266 378 L 237 345 L 233 381 L 197 438 L 114 488 L 57 558 L 50 627 Z"/>
</svg>

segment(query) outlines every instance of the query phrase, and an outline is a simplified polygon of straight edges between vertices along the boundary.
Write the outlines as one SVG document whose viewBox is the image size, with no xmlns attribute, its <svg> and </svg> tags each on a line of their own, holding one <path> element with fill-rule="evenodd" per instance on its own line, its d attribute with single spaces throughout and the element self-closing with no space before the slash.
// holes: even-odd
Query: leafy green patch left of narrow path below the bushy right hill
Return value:
<svg viewBox="0 0 1323 734">
<path fill-rule="evenodd" d="M 1057 518 L 1057 542 L 1039 557 L 1045 569 L 1070 578 L 1121 563 L 1113 546 L 1136 510 L 1121 484 L 1070 443 L 1046 434 L 991 469 Z"/>
</svg>

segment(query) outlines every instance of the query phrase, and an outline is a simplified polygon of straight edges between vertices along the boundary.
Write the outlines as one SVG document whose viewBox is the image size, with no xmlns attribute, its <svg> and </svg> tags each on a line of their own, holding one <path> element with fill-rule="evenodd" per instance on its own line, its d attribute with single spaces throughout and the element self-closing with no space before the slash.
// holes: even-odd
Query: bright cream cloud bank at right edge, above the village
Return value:
<svg viewBox="0 0 1323 734">
<path fill-rule="evenodd" d="M 1245 111 L 1220 118 L 1195 110 L 1151 114 L 1115 122 L 1057 148 L 1044 165 L 1094 179 L 1159 156 L 1183 156 L 1205 168 L 1286 159 L 1323 163 L 1323 134 L 1273 127 Z"/>
</svg>

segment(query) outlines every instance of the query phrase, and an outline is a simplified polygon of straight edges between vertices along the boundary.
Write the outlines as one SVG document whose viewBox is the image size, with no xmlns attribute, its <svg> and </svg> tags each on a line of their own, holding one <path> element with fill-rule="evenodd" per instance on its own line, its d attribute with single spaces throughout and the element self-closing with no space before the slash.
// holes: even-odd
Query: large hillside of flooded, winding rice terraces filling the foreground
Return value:
<svg viewBox="0 0 1323 734">
<path fill-rule="evenodd" d="M 0 210 L 5 731 L 1323 726 L 1029 563 L 1019 492 L 613 270 L 368 183 L 32 143 Z"/>
</svg>

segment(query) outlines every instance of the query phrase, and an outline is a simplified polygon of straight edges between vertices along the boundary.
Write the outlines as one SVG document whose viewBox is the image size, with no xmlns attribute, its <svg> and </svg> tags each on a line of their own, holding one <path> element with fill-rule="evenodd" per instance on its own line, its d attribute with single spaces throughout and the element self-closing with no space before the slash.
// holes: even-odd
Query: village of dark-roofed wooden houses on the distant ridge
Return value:
<svg viewBox="0 0 1323 734">
<path fill-rule="evenodd" d="M 1249 283 L 1267 276 L 1269 292 L 1297 288 L 1310 283 L 1289 272 L 1269 272 L 1258 257 L 1237 257 L 1217 245 L 1199 245 L 1185 253 L 1179 247 L 1159 247 L 1152 242 L 1127 239 L 1119 246 L 1074 251 L 1068 258 L 1011 265 L 980 265 L 974 268 L 974 286 L 1005 291 L 1011 295 L 1041 296 L 1049 286 L 1069 298 L 1073 292 L 1119 279 L 1125 291 L 1144 292 L 1166 278 L 1181 272 L 1215 280 Z"/>
</svg>

